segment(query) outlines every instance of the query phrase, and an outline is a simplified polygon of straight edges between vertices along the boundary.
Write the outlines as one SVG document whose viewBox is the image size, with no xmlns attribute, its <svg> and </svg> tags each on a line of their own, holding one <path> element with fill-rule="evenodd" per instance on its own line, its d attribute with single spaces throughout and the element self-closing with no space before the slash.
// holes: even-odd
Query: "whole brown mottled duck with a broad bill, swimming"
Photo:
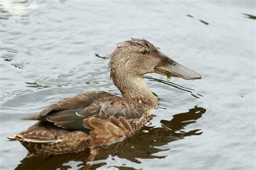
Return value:
<svg viewBox="0 0 256 170">
<path fill-rule="evenodd" d="M 117 44 L 111 54 L 110 77 L 122 96 L 86 91 L 60 99 L 36 115 L 27 130 L 8 136 L 30 155 L 56 155 L 109 146 L 132 137 L 153 115 L 158 97 L 143 79 L 147 73 L 201 79 L 201 75 L 161 53 L 146 39 Z"/>
</svg>

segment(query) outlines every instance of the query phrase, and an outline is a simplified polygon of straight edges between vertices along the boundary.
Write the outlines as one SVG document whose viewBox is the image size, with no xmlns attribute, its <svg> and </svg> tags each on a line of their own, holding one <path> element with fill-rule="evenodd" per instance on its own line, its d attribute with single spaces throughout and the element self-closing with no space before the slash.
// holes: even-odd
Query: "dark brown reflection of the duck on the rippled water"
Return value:
<svg viewBox="0 0 256 170">
<path fill-rule="evenodd" d="M 95 160 L 104 160 L 108 155 L 117 156 L 133 162 L 140 163 L 137 159 L 165 158 L 167 155 L 157 156 L 158 152 L 165 151 L 155 146 L 164 146 L 174 140 L 183 139 L 187 136 L 200 135 L 200 129 L 186 131 L 185 127 L 189 124 L 196 123 L 206 109 L 195 107 L 188 112 L 173 115 L 171 121 L 161 120 L 162 128 L 154 126 L 144 126 L 142 130 L 131 138 L 124 140 L 122 143 L 110 145 L 100 150 Z M 145 131 L 147 133 L 145 133 Z M 168 150 L 168 149 L 167 149 Z M 24 158 L 16 169 L 68 169 L 71 168 L 69 161 L 78 162 L 77 168 L 86 166 L 90 160 L 90 151 L 86 150 L 79 153 L 60 154 L 48 157 L 32 156 Z M 105 163 L 92 165 L 91 168 L 103 166 Z"/>
</svg>

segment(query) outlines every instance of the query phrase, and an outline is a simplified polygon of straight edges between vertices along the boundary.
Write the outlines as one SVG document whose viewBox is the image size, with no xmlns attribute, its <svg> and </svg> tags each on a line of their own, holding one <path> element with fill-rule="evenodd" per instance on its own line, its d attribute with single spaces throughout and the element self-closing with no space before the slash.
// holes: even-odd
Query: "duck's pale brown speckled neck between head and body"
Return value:
<svg viewBox="0 0 256 170">
<path fill-rule="evenodd" d="M 147 87 L 142 76 L 122 75 L 112 79 L 125 99 L 146 104 L 149 108 L 157 107 L 158 99 Z"/>
</svg>

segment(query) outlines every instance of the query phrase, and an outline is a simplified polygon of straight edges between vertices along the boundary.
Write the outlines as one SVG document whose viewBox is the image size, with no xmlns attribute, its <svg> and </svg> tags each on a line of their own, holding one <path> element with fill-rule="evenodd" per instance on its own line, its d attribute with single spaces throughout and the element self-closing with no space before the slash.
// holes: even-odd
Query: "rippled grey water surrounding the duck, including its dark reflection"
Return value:
<svg viewBox="0 0 256 170">
<path fill-rule="evenodd" d="M 25 158 L 5 138 L 59 98 L 120 95 L 107 63 L 145 38 L 201 80 L 145 76 L 160 99 L 135 137 L 102 151 L 98 169 L 255 169 L 254 1 L 1 1 L 1 169 L 83 169 L 88 151 Z"/>
</svg>

